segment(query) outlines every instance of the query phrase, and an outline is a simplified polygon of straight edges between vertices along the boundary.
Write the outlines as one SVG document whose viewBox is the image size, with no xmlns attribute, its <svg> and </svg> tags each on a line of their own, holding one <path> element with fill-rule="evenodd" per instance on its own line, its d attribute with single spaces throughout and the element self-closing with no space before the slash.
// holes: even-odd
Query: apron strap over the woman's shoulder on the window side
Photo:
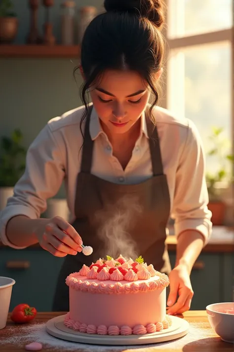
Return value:
<svg viewBox="0 0 234 352">
<path fill-rule="evenodd" d="M 147 131 L 149 135 L 149 143 L 150 143 L 150 152 L 151 152 L 151 162 L 153 175 L 159 176 L 163 175 L 163 165 L 160 151 L 159 138 L 157 133 L 156 125 L 151 121 L 149 117 L 148 109 L 145 112 Z"/>
</svg>

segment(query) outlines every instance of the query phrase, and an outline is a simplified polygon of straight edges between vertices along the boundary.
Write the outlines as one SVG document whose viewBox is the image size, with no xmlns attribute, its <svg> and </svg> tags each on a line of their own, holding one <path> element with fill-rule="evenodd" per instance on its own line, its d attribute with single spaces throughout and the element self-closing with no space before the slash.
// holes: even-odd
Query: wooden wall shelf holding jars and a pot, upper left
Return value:
<svg viewBox="0 0 234 352">
<path fill-rule="evenodd" d="M 78 58 L 79 45 L 0 45 L 0 58 Z"/>
</svg>

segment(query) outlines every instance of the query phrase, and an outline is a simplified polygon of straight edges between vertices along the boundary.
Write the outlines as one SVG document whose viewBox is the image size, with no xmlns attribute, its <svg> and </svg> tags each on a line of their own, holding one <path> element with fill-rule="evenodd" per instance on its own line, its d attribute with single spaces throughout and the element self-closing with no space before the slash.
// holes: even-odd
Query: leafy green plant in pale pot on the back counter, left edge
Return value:
<svg viewBox="0 0 234 352">
<path fill-rule="evenodd" d="M 20 130 L 12 132 L 11 137 L 2 137 L 0 143 L 0 211 L 7 199 L 13 195 L 13 188 L 25 170 L 26 149 L 22 146 Z"/>
</svg>

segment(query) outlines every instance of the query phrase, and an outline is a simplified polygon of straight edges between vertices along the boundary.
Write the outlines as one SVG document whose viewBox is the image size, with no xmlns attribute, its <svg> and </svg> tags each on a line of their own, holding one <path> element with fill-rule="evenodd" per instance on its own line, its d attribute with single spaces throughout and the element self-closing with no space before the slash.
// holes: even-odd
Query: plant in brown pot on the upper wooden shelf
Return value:
<svg viewBox="0 0 234 352">
<path fill-rule="evenodd" d="M 11 0 L 0 0 L 0 43 L 11 43 L 18 31 L 18 18 Z"/>
</svg>

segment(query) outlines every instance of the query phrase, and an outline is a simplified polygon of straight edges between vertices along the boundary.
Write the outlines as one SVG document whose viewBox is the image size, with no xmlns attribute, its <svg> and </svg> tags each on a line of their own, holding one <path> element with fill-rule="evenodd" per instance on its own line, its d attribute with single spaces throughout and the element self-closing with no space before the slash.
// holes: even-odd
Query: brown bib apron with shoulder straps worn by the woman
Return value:
<svg viewBox="0 0 234 352">
<path fill-rule="evenodd" d="M 99 258 L 106 258 L 107 254 L 124 255 L 132 243 L 134 253 L 142 255 L 156 270 L 165 274 L 171 270 L 165 245 L 170 196 L 156 127 L 146 113 L 153 177 L 138 184 L 112 183 L 91 174 L 94 145 L 89 133 L 91 111 L 92 106 L 85 123 L 75 200 L 76 219 L 72 225 L 83 244 L 93 247 L 93 253 L 90 256 L 82 252 L 67 255 L 59 273 L 53 311 L 69 311 L 69 287 L 65 283 L 68 275 L 78 272 L 83 264 L 89 266 Z"/>
</svg>

